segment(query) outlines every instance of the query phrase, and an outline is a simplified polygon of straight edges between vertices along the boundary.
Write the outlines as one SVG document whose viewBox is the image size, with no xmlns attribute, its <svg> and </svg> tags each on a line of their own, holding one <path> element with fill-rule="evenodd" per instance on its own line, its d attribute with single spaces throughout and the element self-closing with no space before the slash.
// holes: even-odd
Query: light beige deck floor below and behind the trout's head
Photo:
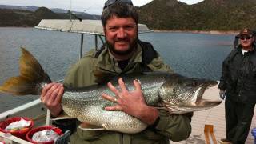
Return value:
<svg viewBox="0 0 256 144">
<path fill-rule="evenodd" d="M 203 98 L 219 99 L 217 86 L 211 87 L 206 90 Z M 193 144 L 203 144 L 206 143 L 204 135 L 204 126 L 213 125 L 214 135 L 218 142 L 221 138 L 225 138 L 225 108 L 224 101 L 219 105 L 210 110 L 203 110 L 194 112 L 192 118 L 192 133 L 190 138 L 182 142 L 170 142 L 175 144 L 193 143 Z M 246 140 L 246 144 L 254 143 L 254 136 L 251 134 L 251 130 L 256 127 L 256 110 L 254 110 L 254 118 L 250 126 L 250 133 Z M 211 143 L 214 143 L 210 140 Z"/>
</svg>

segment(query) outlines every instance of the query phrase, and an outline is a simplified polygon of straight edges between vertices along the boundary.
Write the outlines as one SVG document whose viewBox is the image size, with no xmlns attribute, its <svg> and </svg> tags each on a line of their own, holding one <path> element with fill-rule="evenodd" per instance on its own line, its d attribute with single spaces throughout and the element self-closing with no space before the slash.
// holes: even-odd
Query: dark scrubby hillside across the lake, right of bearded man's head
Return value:
<svg viewBox="0 0 256 144">
<path fill-rule="evenodd" d="M 256 0 L 204 0 L 194 5 L 154 0 L 138 7 L 140 22 L 154 30 L 240 30 L 256 28 Z"/>
</svg>

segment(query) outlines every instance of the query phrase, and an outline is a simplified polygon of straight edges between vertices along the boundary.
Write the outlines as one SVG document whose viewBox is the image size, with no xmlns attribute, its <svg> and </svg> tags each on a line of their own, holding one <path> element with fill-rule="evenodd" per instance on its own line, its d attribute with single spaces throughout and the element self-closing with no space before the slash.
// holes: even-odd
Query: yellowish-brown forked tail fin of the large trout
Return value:
<svg viewBox="0 0 256 144">
<path fill-rule="evenodd" d="M 25 48 L 21 47 L 21 50 L 20 75 L 6 80 L 0 86 L 0 92 L 14 95 L 41 94 L 42 87 L 52 81 L 38 60 Z"/>
</svg>

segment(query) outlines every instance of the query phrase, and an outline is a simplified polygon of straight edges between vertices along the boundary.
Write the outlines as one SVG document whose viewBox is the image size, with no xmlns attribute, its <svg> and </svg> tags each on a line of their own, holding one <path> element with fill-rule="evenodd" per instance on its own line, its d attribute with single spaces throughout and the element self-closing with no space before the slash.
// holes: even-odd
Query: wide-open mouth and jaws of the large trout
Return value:
<svg viewBox="0 0 256 144">
<path fill-rule="evenodd" d="M 202 98 L 206 90 L 210 89 L 210 87 L 216 86 L 217 84 L 218 82 L 216 81 L 209 81 L 199 86 L 194 93 L 194 98 L 196 98 L 196 101 L 194 102 L 194 106 L 206 108 L 206 107 L 218 106 L 220 103 L 222 103 L 222 101 L 220 100 L 210 100 L 210 99 Z"/>
</svg>

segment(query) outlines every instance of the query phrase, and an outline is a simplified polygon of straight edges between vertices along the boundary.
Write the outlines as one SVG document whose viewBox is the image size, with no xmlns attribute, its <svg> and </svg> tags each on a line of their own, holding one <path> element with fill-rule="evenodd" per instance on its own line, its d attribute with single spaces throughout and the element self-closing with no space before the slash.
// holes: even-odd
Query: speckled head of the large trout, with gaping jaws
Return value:
<svg viewBox="0 0 256 144">
<path fill-rule="evenodd" d="M 172 114 L 185 114 L 218 106 L 222 101 L 202 98 L 205 91 L 217 81 L 186 78 L 172 74 L 161 86 L 159 96 L 163 106 Z"/>
</svg>

